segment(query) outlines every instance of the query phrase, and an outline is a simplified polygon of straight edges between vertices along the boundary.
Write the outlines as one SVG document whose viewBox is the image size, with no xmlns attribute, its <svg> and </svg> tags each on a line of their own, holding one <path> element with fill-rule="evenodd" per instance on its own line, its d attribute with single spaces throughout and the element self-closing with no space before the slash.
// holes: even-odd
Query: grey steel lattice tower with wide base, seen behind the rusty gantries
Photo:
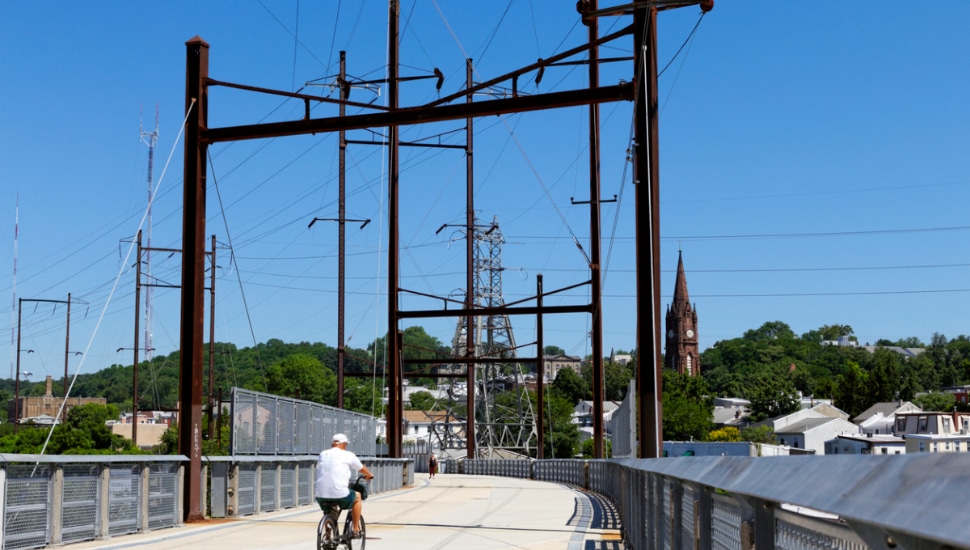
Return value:
<svg viewBox="0 0 970 550">
<path fill-rule="evenodd" d="M 493 218 L 489 225 L 476 223 L 473 237 L 475 288 L 472 302 L 475 307 L 504 307 L 502 244 L 505 237 L 498 220 Z M 535 415 L 528 393 L 522 386 L 522 365 L 515 360 L 515 336 L 509 316 L 498 314 L 477 317 L 471 337 L 475 357 L 480 359 L 468 366 L 475 369 L 476 387 L 466 388 L 466 391 L 475 392 L 476 448 L 488 456 L 494 456 L 498 450 L 528 454 L 537 437 Z M 467 339 L 467 326 L 459 320 L 451 347 L 455 356 L 462 355 L 468 349 Z M 502 399 L 504 405 L 500 405 L 496 397 L 503 392 L 514 392 L 513 398 Z M 452 386 L 448 393 L 454 398 L 461 392 L 454 391 Z M 448 437 L 451 434 L 448 426 L 443 428 L 446 434 L 439 435 L 438 440 L 446 445 L 455 438 Z"/>
</svg>

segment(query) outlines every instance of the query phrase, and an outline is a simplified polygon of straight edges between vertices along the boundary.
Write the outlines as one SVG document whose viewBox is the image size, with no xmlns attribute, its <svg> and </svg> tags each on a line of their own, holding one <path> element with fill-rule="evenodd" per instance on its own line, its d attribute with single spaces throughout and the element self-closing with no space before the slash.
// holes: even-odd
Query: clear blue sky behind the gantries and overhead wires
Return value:
<svg viewBox="0 0 970 550">
<path fill-rule="evenodd" d="M 462 87 L 466 57 L 485 80 L 586 39 L 573 2 L 402 4 L 402 75 L 437 67 L 443 93 Z M 130 351 L 115 350 L 133 338 L 127 241 L 148 196 L 139 123 L 151 131 L 158 106 L 151 244 L 179 248 L 184 43 L 198 35 L 211 45 L 215 79 L 332 95 L 307 83 L 332 82 L 340 50 L 352 76 L 384 76 L 386 11 L 374 0 L 0 5 L 0 230 L 8 243 L 0 253 L 0 296 L 7 296 L 0 334 L 7 338 L 16 323 L 9 306 L 19 200 L 16 296 L 78 300 L 70 348 L 87 354 L 83 364 L 71 356 L 71 372 L 130 364 Z M 863 343 L 970 333 L 970 4 L 719 0 L 685 45 L 699 17 L 690 7 L 659 18 L 660 66 L 669 63 L 660 79 L 664 307 L 681 249 L 702 349 L 774 320 L 798 334 L 848 324 Z M 603 20 L 601 29 L 627 23 Z M 601 55 L 631 52 L 624 41 Z M 628 80 L 630 71 L 628 62 L 611 64 L 602 82 Z M 403 85 L 402 105 L 437 97 L 433 82 Z M 558 68 L 538 91 L 584 84 L 582 69 Z M 528 79 L 520 87 L 536 91 Z M 355 88 L 352 99 L 381 104 L 386 92 Z M 210 97 L 212 126 L 301 114 L 301 104 L 278 98 L 225 89 Z M 334 114 L 326 106 L 314 112 Z M 628 103 L 601 109 L 602 194 L 618 196 L 603 209 L 607 353 L 635 343 L 631 117 Z M 579 108 L 476 121 L 475 204 L 480 220 L 497 219 L 506 237 L 506 301 L 534 294 L 539 273 L 547 291 L 588 277 L 572 240 L 588 253 L 588 211 L 570 201 L 589 198 L 587 124 Z M 443 142 L 462 143 L 461 128 L 414 126 L 402 139 L 443 134 Z M 217 145 L 210 153 L 207 233 L 220 247 L 216 339 L 335 346 L 337 226 L 307 224 L 337 216 L 336 136 Z M 346 332 L 354 347 L 387 328 L 385 161 L 379 147 L 349 148 L 347 217 L 373 220 L 363 230 L 348 224 Z M 464 158 L 408 148 L 401 167 L 402 286 L 457 292 L 464 244 L 455 228 L 435 232 L 463 221 Z M 179 261 L 154 253 L 152 273 L 178 284 Z M 546 303 L 584 299 L 567 294 Z M 176 290 L 154 290 L 156 354 L 178 347 L 178 307 Z M 63 373 L 64 321 L 62 305 L 25 303 L 21 348 L 35 353 L 22 356 L 21 369 L 32 380 Z M 421 324 L 450 344 L 453 322 Z M 535 340 L 533 319 L 512 325 L 520 345 Z M 590 353 L 584 316 L 547 317 L 545 326 L 547 344 Z"/>
</svg>

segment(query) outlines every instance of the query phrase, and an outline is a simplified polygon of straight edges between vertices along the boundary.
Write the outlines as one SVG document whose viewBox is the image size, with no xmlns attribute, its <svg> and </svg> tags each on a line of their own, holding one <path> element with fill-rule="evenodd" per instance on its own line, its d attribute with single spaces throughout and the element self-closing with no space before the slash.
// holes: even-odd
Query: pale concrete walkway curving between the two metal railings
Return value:
<svg viewBox="0 0 970 550">
<path fill-rule="evenodd" d="M 321 512 L 304 506 L 232 520 L 71 544 L 71 550 L 313 550 Z M 615 515 L 597 495 L 557 483 L 418 474 L 412 487 L 364 502 L 371 550 L 622 548 Z"/>
</svg>

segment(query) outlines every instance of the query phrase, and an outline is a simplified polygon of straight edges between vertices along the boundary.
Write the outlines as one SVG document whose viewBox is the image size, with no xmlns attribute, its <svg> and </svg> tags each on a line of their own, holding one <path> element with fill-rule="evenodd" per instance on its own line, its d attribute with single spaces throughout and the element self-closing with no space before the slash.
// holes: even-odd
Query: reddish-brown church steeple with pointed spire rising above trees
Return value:
<svg viewBox="0 0 970 550">
<path fill-rule="evenodd" d="M 697 346 L 697 309 L 687 294 L 683 252 L 677 253 L 677 281 L 674 300 L 667 306 L 667 338 L 664 363 L 681 374 L 700 375 L 700 353 Z"/>
</svg>

